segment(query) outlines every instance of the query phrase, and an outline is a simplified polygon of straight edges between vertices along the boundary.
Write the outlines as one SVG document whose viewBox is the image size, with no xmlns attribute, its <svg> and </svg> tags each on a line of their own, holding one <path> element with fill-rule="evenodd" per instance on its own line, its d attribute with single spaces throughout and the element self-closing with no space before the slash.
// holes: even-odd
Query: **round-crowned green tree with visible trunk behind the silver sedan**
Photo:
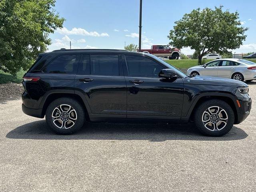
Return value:
<svg viewBox="0 0 256 192">
<path fill-rule="evenodd" d="M 236 49 L 246 39 L 248 28 L 241 26 L 238 12 L 223 11 L 222 6 L 200 8 L 185 14 L 175 22 L 168 38 L 170 45 L 177 48 L 190 47 L 198 52 L 198 64 L 202 56 L 210 52 L 227 53 Z"/>
</svg>

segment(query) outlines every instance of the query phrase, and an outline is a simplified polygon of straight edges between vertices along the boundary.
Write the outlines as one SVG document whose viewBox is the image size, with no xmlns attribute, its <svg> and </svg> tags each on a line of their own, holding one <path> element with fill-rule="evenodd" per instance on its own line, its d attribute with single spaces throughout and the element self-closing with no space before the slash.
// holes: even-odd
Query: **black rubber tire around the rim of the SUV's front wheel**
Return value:
<svg viewBox="0 0 256 192">
<path fill-rule="evenodd" d="M 204 111 L 206 111 L 208 108 L 210 108 L 212 106 L 218 106 L 218 107 L 224 109 L 226 111 L 226 114 L 228 115 L 228 119 L 226 120 L 227 121 L 226 126 L 224 126 L 220 130 L 217 130 L 217 129 L 215 129 L 215 131 L 208 130 L 208 128 L 206 128 L 204 126 L 204 123 L 202 121 L 202 116 L 204 114 Z M 224 102 L 222 100 L 218 100 L 218 99 L 213 99 L 213 100 L 208 100 L 208 101 L 203 102 L 202 104 L 200 104 L 200 106 L 198 106 L 195 109 L 194 114 L 195 114 L 194 122 L 195 122 L 198 130 L 206 136 L 213 136 L 213 137 L 219 137 L 219 136 L 223 136 L 223 135 L 227 134 L 232 129 L 233 124 L 234 124 L 234 119 L 235 119 L 234 112 L 233 112 L 232 108 L 230 107 L 230 105 L 227 104 L 226 102 Z M 209 117 L 209 119 L 210 119 L 210 117 Z"/>
</svg>

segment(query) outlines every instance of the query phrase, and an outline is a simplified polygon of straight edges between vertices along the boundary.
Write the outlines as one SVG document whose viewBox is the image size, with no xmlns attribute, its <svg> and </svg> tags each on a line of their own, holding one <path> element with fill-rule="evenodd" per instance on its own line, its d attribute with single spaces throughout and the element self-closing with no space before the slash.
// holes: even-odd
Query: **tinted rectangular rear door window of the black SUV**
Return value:
<svg viewBox="0 0 256 192">
<path fill-rule="evenodd" d="M 118 55 L 91 55 L 91 74 L 118 76 Z"/>
</svg>

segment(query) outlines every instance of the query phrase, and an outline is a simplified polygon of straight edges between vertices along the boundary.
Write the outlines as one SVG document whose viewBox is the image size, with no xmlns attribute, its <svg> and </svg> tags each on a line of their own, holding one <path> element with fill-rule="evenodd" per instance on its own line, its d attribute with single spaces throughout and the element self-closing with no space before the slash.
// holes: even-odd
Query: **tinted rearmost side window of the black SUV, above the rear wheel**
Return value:
<svg viewBox="0 0 256 192">
<path fill-rule="evenodd" d="M 80 54 L 62 55 L 55 58 L 44 69 L 45 73 L 75 74 L 78 67 Z"/>
</svg>

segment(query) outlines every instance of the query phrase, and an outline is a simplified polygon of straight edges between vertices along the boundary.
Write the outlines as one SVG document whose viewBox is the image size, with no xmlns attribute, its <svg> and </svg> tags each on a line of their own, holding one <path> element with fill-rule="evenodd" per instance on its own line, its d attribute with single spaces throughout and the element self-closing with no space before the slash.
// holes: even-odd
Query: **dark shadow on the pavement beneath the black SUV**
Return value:
<svg viewBox="0 0 256 192">
<path fill-rule="evenodd" d="M 234 126 L 222 137 L 202 136 L 193 124 L 110 124 L 90 123 L 72 135 L 57 135 L 48 128 L 45 120 L 24 124 L 10 131 L 6 138 L 35 140 L 240 140 L 248 135 Z"/>
</svg>

